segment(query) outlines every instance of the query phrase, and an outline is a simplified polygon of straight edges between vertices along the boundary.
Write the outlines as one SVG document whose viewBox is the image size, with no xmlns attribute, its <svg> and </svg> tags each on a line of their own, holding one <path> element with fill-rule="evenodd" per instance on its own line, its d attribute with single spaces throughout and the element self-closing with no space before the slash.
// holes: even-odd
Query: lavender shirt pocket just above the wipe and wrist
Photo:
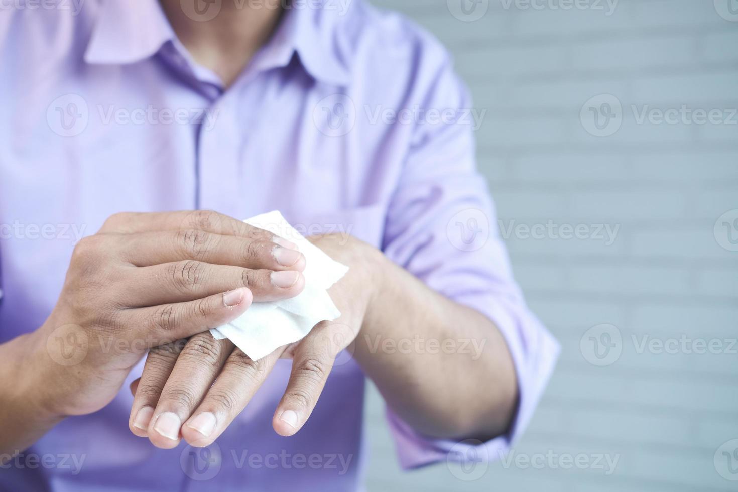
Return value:
<svg viewBox="0 0 738 492">
<path fill-rule="evenodd" d="M 376 248 L 382 247 L 385 218 L 385 207 L 382 204 L 323 212 L 292 209 L 283 210 L 283 215 L 303 236 L 323 234 L 354 236 Z"/>
</svg>

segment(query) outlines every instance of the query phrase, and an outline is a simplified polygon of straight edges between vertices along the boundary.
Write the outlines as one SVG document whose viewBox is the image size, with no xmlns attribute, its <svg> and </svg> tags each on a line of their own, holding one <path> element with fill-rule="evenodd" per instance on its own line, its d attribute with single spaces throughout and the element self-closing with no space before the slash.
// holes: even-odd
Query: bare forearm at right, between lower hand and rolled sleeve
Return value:
<svg viewBox="0 0 738 492">
<path fill-rule="evenodd" d="M 517 406 L 502 334 L 389 260 L 356 339 L 356 359 L 390 407 L 433 437 L 494 437 Z"/>
</svg>

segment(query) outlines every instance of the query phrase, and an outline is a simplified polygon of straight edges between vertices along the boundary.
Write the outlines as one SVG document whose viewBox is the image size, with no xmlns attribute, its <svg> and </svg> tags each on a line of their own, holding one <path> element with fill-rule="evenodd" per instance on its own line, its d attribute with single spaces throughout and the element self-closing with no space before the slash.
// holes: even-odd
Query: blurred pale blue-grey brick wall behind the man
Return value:
<svg viewBox="0 0 738 492">
<path fill-rule="evenodd" d="M 563 350 L 489 466 L 401 472 L 370 388 L 369 490 L 737 491 L 738 0 L 373 3 L 487 110 L 497 226 Z"/>
</svg>

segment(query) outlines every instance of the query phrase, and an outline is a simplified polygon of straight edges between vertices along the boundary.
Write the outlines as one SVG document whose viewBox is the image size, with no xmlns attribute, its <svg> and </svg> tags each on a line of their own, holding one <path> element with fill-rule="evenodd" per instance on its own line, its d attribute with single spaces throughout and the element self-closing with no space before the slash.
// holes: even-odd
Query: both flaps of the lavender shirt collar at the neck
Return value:
<svg viewBox="0 0 738 492">
<path fill-rule="evenodd" d="M 252 69 L 286 66 L 297 54 L 316 80 L 346 85 L 350 66 L 337 42 L 345 15 L 331 0 L 295 2 L 286 8 L 277 31 L 252 60 Z M 328 7 L 326 7 L 328 4 Z M 345 13 L 343 13 L 345 14 Z M 84 59 L 87 63 L 136 63 L 156 54 L 176 35 L 157 0 L 103 0 Z"/>
</svg>

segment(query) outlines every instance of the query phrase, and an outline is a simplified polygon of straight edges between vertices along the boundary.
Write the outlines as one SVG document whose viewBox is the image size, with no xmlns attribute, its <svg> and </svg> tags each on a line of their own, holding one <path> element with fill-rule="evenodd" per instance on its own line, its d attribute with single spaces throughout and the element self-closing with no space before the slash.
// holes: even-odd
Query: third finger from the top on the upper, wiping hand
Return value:
<svg viewBox="0 0 738 492">
<path fill-rule="evenodd" d="M 254 301 L 263 302 L 297 296 L 305 288 L 305 277 L 294 270 L 255 270 L 182 260 L 126 268 L 120 285 L 123 302 L 131 307 L 192 301 L 239 287 L 248 288 Z"/>
</svg>

